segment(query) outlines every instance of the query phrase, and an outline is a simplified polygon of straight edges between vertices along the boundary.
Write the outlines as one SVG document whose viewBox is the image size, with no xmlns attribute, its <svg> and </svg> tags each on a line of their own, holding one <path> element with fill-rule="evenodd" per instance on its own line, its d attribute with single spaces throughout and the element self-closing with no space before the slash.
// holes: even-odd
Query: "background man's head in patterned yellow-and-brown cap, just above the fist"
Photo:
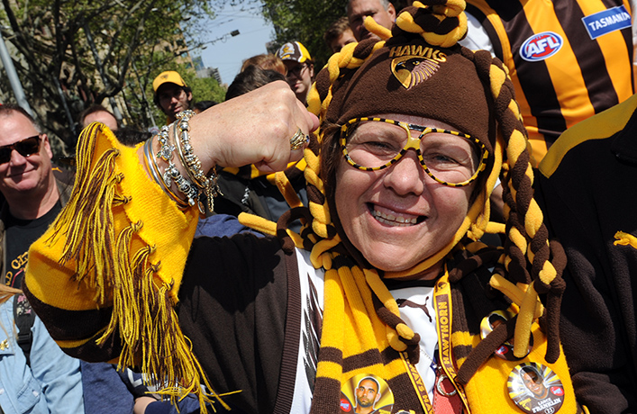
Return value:
<svg viewBox="0 0 637 414">
<path fill-rule="evenodd" d="M 296 98 L 305 103 L 314 78 L 314 61 L 310 52 L 300 41 L 288 41 L 278 49 L 277 56 L 286 65 L 287 83 L 296 94 Z"/>
</svg>

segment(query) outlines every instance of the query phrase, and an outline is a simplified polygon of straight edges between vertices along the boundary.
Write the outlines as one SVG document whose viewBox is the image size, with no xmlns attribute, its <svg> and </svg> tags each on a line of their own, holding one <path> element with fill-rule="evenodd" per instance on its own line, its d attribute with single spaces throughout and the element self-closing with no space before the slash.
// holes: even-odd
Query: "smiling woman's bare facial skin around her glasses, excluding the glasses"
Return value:
<svg viewBox="0 0 637 414">
<path fill-rule="evenodd" d="M 416 116 L 382 117 L 454 130 L 443 122 Z M 412 133 L 417 137 L 418 132 Z M 359 170 L 341 157 L 335 203 L 341 226 L 354 247 L 372 266 L 397 272 L 432 257 L 450 242 L 469 211 L 474 185 L 451 187 L 436 182 L 424 171 L 414 150 L 378 171 Z"/>
</svg>

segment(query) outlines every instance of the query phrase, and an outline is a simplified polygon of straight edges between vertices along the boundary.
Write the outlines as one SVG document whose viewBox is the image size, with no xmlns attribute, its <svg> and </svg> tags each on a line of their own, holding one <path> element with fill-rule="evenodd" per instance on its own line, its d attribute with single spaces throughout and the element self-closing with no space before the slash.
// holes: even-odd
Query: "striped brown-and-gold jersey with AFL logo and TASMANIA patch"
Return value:
<svg viewBox="0 0 637 414">
<path fill-rule="evenodd" d="M 461 44 L 508 67 L 533 166 L 564 130 L 634 93 L 630 9 L 627 0 L 467 1 Z"/>
</svg>

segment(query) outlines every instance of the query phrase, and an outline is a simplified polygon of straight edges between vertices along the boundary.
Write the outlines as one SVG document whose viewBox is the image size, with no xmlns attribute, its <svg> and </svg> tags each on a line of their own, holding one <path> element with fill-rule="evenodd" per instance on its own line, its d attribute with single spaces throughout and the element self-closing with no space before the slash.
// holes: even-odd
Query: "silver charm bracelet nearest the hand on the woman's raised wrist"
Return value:
<svg viewBox="0 0 637 414">
<path fill-rule="evenodd" d="M 195 112 L 187 110 L 177 113 L 177 122 L 175 123 L 175 141 L 177 143 L 177 154 L 181 160 L 182 165 L 186 169 L 187 175 L 192 182 L 199 187 L 200 191 L 205 194 L 207 200 L 207 206 L 210 211 L 214 211 L 214 197 L 217 195 L 223 195 L 218 184 L 218 176 L 214 168 L 210 171 L 210 176 L 206 176 L 201 168 L 201 161 L 199 157 L 193 152 L 193 147 L 190 144 L 190 138 L 188 132 L 190 126 L 188 121 L 195 115 Z M 178 127 L 178 131 L 177 131 Z M 178 133 L 177 133 L 178 132 Z M 178 137 L 178 139 L 177 139 Z M 201 201 L 200 201 L 201 202 Z M 205 213 L 203 205 L 199 204 L 199 211 L 202 214 Z"/>
</svg>

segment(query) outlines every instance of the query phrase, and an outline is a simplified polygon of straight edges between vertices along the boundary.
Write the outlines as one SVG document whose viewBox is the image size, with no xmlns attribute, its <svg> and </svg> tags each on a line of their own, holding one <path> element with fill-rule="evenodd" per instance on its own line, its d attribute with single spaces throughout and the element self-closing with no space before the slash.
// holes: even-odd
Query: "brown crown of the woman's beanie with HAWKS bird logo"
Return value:
<svg viewBox="0 0 637 414">
<path fill-rule="evenodd" d="M 419 36 L 392 37 L 340 89 L 325 114 L 328 121 L 342 125 L 383 113 L 420 116 L 448 123 L 493 150 L 492 99 L 459 45 L 445 49 Z"/>
</svg>

